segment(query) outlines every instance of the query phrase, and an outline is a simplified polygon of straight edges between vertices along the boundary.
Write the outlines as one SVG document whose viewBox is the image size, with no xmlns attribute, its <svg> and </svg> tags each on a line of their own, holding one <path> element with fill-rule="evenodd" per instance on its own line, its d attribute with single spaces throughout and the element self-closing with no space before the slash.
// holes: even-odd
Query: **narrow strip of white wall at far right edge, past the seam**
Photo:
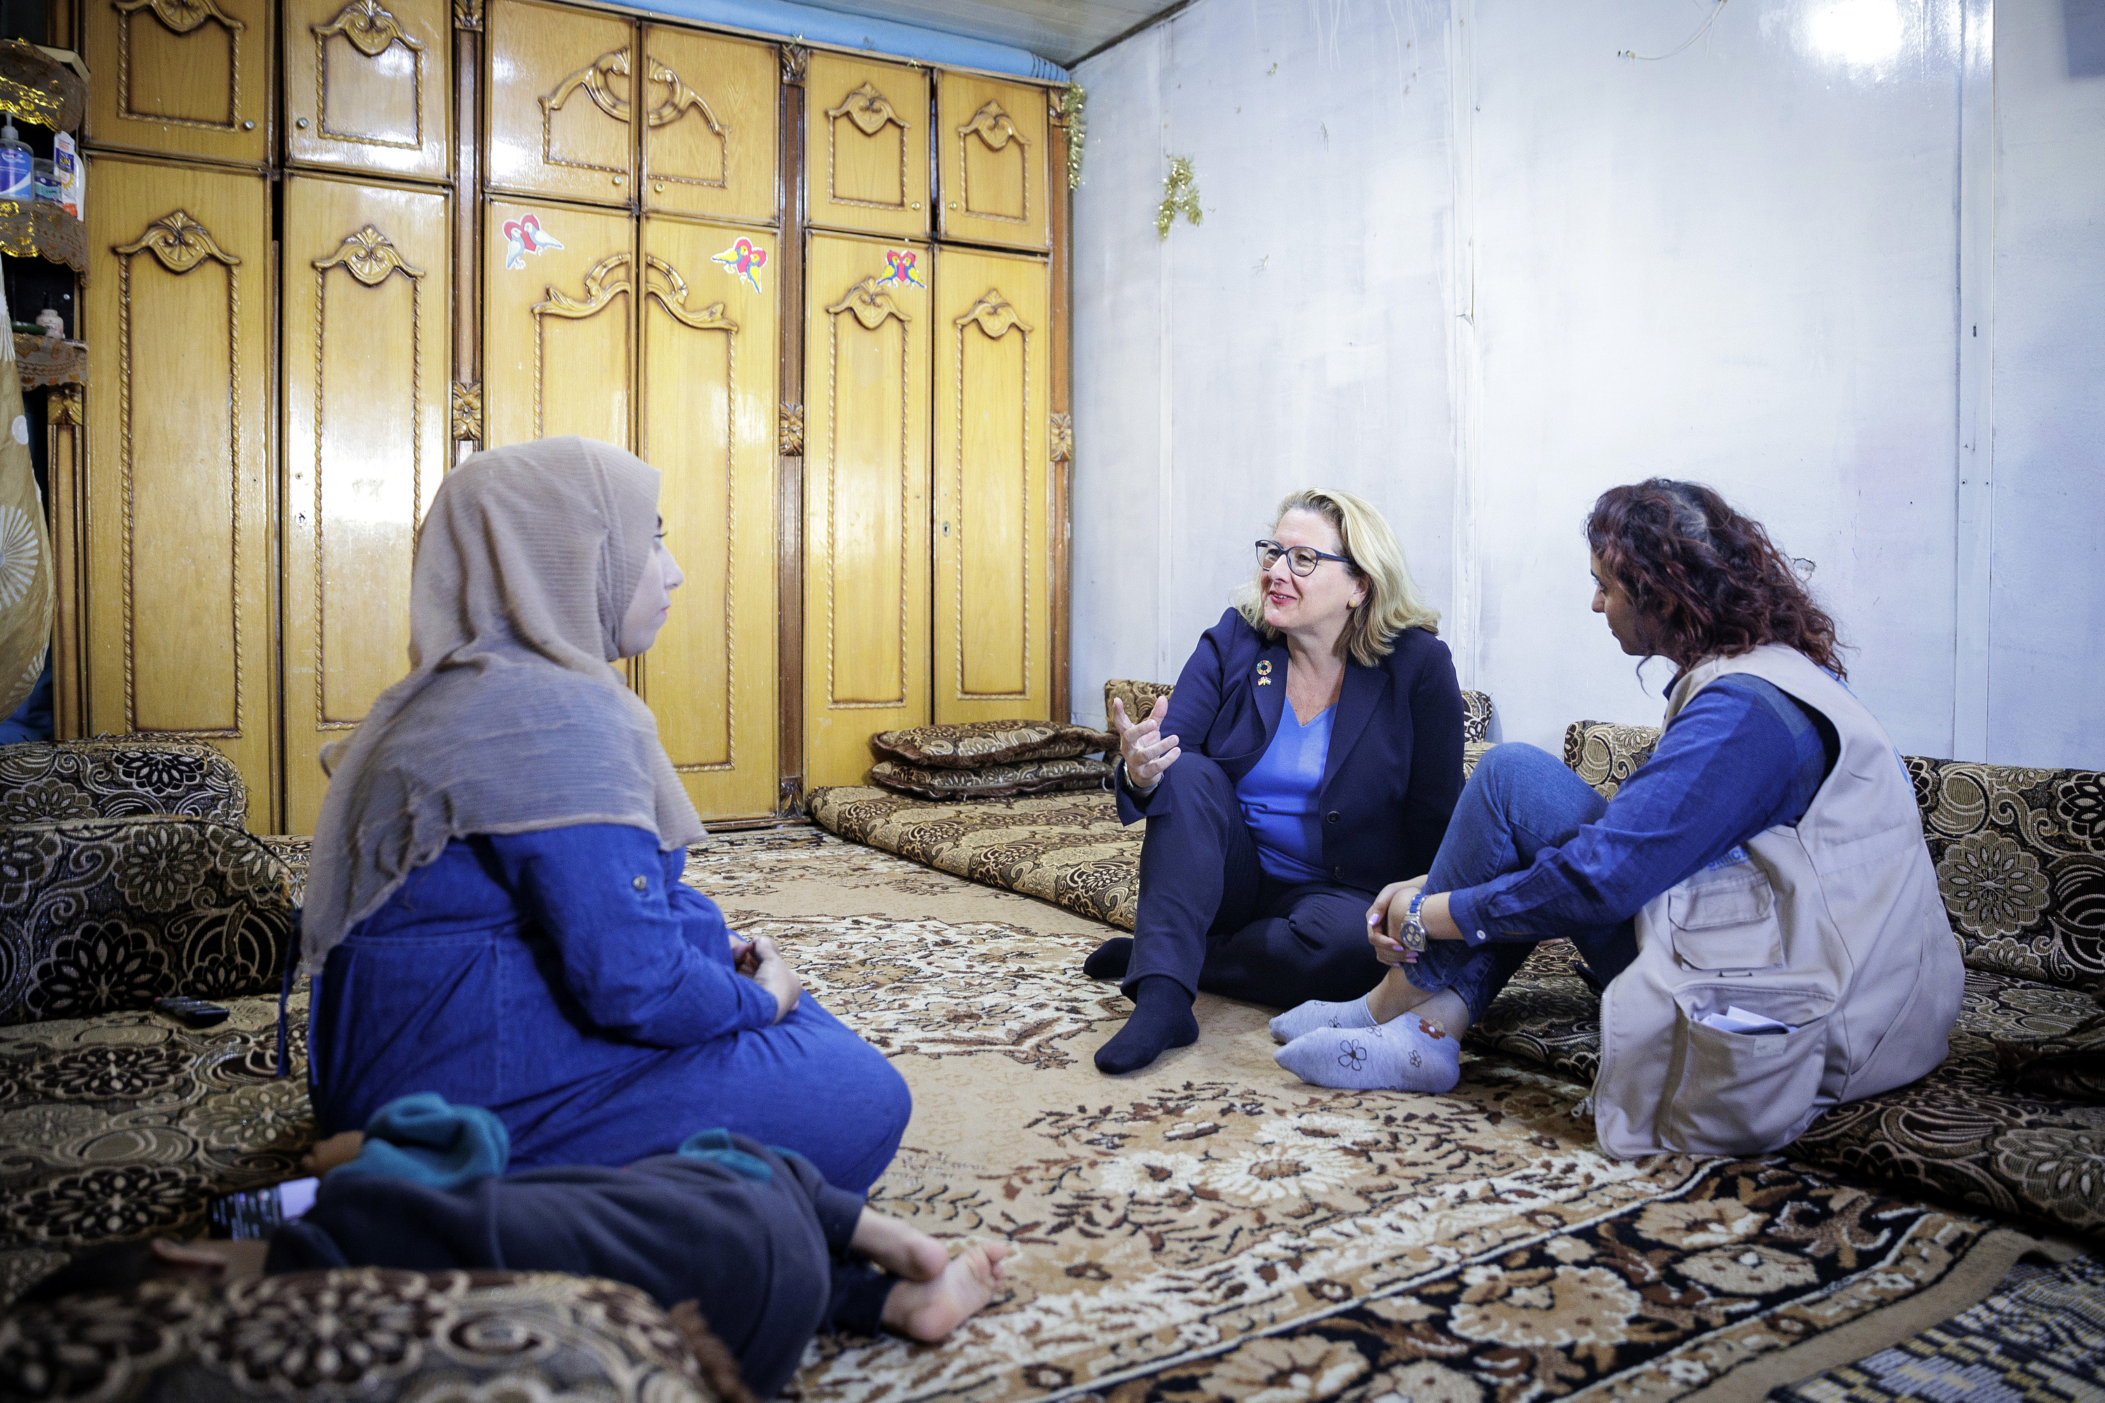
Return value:
<svg viewBox="0 0 2105 1403">
<path fill-rule="evenodd" d="M 1989 759 L 2105 768 L 2105 0 L 1996 6 Z"/>
</svg>

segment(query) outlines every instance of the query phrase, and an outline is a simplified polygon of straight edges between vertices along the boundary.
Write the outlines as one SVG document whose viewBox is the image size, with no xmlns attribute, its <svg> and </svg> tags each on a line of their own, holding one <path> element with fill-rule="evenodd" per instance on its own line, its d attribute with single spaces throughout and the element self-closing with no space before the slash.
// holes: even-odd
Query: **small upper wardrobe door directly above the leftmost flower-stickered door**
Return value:
<svg viewBox="0 0 2105 1403">
<path fill-rule="evenodd" d="M 535 0 L 490 0 L 486 23 L 490 187 L 629 204 L 636 25 Z"/>
</svg>

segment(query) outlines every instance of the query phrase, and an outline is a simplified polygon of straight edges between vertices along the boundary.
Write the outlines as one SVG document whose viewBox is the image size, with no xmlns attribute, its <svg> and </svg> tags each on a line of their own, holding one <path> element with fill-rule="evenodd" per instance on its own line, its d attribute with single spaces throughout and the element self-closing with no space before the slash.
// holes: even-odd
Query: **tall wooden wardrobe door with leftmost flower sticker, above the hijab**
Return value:
<svg viewBox="0 0 2105 1403">
<path fill-rule="evenodd" d="M 482 446 L 634 446 L 636 221 L 490 200 L 482 229 Z"/>
</svg>

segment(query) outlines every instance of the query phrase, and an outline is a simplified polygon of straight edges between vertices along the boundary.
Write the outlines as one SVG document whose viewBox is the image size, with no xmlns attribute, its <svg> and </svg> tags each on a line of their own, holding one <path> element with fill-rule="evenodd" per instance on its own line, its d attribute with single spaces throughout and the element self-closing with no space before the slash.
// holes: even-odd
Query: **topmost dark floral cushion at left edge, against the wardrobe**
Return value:
<svg viewBox="0 0 2105 1403">
<path fill-rule="evenodd" d="M 61 740 L 0 745 L 0 822 L 185 814 L 236 827 L 248 787 L 202 740 Z"/>
</svg>

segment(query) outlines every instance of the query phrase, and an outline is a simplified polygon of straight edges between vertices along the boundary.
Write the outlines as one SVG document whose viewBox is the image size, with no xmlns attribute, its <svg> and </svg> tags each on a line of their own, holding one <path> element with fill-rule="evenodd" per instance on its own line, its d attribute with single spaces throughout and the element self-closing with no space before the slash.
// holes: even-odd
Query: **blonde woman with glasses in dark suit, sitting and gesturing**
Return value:
<svg viewBox="0 0 2105 1403">
<path fill-rule="evenodd" d="M 1118 812 L 1147 837 L 1132 938 L 1082 965 L 1135 1003 L 1099 1071 L 1198 1041 L 1200 989 L 1292 1008 L 1381 978 L 1368 904 L 1431 865 L 1461 795 L 1438 621 L 1375 507 L 1295 492 L 1175 694 L 1139 719 L 1114 703 Z"/>
</svg>

